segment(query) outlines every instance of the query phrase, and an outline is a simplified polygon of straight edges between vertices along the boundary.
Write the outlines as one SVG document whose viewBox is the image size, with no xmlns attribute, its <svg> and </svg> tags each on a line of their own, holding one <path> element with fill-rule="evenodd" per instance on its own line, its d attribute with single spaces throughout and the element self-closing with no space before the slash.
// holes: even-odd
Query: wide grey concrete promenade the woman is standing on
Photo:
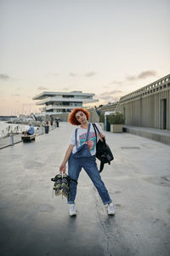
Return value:
<svg viewBox="0 0 170 256">
<path fill-rule="evenodd" d="M 170 146 L 105 132 L 115 160 L 101 177 L 116 215 L 107 215 L 82 170 L 71 218 L 66 199 L 52 197 L 50 179 L 74 129 L 61 122 L 35 142 L 0 150 L 0 255 L 169 256 Z"/>
</svg>

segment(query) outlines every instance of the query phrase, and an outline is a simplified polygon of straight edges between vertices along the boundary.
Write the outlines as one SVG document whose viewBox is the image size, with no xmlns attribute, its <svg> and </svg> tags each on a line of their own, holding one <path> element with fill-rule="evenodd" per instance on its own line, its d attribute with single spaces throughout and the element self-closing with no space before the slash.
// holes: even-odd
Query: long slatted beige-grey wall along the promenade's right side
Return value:
<svg viewBox="0 0 170 256">
<path fill-rule="evenodd" d="M 125 125 L 170 130 L 170 75 L 123 96 L 118 110 Z"/>
</svg>

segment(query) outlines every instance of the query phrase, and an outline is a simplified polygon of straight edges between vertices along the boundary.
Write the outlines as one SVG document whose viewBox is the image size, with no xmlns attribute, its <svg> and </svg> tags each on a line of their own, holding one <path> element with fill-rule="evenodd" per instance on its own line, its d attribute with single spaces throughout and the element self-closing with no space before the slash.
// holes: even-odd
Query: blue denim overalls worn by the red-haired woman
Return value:
<svg viewBox="0 0 170 256">
<path fill-rule="evenodd" d="M 87 172 L 88 176 L 94 183 L 94 186 L 99 192 L 99 196 L 103 201 L 104 205 L 111 203 L 111 198 L 108 194 L 105 184 L 101 180 L 99 175 L 99 170 L 95 162 L 95 155 L 91 155 L 88 148 L 88 135 L 90 130 L 90 123 L 88 124 L 88 134 L 86 138 L 86 143 L 82 144 L 81 147 L 77 148 L 75 154 L 71 153 L 68 160 L 68 175 L 77 180 L 82 168 Z M 75 131 L 75 141 L 77 147 L 77 130 Z M 74 204 L 77 195 L 77 183 L 71 181 L 71 195 L 68 198 L 69 204 Z"/>
</svg>

